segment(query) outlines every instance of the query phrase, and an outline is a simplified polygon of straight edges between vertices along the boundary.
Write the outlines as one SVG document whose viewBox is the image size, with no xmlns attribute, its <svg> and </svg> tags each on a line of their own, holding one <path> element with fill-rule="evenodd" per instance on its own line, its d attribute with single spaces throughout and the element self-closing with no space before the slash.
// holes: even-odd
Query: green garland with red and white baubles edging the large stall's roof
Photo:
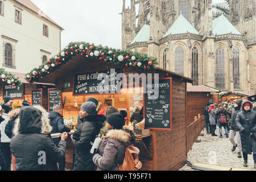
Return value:
<svg viewBox="0 0 256 182">
<path fill-rule="evenodd" d="M 135 69 L 143 69 L 147 71 L 150 71 L 154 68 L 154 65 L 157 64 L 155 58 L 148 57 L 145 53 L 112 49 L 109 47 L 102 47 L 101 45 L 95 46 L 94 44 L 85 42 L 71 42 L 56 56 L 27 73 L 26 80 L 30 84 L 32 82 L 36 82 L 40 78 L 43 78 L 54 72 L 56 69 L 59 69 L 61 65 L 72 60 L 73 57 L 77 55 L 84 56 L 85 58 L 92 57 L 94 59 L 100 59 L 101 61 L 118 65 L 120 67 L 133 67 Z"/>
</svg>

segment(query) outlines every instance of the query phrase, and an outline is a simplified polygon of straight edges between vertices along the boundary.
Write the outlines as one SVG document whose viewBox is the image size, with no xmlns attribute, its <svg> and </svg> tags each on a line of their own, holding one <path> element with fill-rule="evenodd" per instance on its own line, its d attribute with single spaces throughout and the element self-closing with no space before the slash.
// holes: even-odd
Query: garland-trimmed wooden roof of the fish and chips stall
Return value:
<svg viewBox="0 0 256 182">
<path fill-rule="evenodd" d="M 179 78 L 181 81 L 192 83 L 192 79 L 177 73 L 156 68 L 157 61 L 145 53 L 130 50 L 112 49 L 95 46 L 85 42 L 69 43 L 67 47 L 42 65 L 26 74 L 29 83 L 43 82 L 56 84 L 59 78 L 67 77 L 67 73 L 83 72 L 86 70 L 125 68 L 127 72 L 163 73 L 169 77 Z"/>
</svg>

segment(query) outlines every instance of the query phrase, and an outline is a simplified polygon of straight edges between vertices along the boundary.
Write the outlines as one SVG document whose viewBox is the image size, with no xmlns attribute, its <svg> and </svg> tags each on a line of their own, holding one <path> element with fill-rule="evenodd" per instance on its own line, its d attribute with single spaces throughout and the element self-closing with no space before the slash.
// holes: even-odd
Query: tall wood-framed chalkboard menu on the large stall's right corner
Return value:
<svg viewBox="0 0 256 182">
<path fill-rule="evenodd" d="M 172 130 L 171 85 L 171 78 L 159 80 L 158 84 L 147 82 L 147 93 L 144 94 L 144 118 L 147 129 Z"/>
</svg>

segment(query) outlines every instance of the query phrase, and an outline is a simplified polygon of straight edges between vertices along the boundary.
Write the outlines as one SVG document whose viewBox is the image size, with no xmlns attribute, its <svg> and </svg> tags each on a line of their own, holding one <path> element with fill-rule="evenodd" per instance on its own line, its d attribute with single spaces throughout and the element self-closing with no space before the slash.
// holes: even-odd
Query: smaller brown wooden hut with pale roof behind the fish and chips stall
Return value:
<svg viewBox="0 0 256 182">
<path fill-rule="evenodd" d="M 190 125 L 197 114 L 203 115 L 204 108 L 209 100 L 214 99 L 219 90 L 209 88 L 208 86 L 187 86 L 187 125 Z M 216 101 L 215 101 L 216 102 Z"/>
</svg>

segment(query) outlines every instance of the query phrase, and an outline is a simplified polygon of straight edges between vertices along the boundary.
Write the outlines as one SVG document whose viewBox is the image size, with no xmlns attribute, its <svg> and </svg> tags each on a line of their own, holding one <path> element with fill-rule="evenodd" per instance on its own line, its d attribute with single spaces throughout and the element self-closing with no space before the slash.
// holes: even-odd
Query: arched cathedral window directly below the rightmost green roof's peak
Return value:
<svg viewBox="0 0 256 182">
<path fill-rule="evenodd" d="M 222 47 L 216 50 L 215 85 L 218 89 L 225 89 L 225 53 Z"/>
</svg>

